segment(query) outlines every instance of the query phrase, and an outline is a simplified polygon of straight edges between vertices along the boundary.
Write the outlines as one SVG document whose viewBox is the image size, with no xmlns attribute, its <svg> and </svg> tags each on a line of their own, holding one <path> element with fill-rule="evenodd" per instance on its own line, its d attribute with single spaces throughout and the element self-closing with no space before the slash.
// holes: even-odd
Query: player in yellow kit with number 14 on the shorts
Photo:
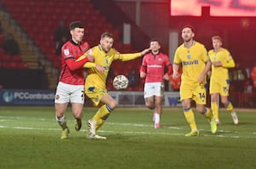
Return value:
<svg viewBox="0 0 256 169">
<path fill-rule="evenodd" d="M 199 136 L 195 115 L 191 109 L 192 100 L 195 101 L 196 110 L 210 121 L 212 133 L 215 133 L 217 125 L 211 110 L 205 106 L 207 103 L 206 76 L 211 68 L 207 49 L 200 42 L 195 42 L 195 32 L 189 25 L 183 27 L 182 37 L 183 44 L 177 48 L 174 55 L 172 76 L 174 79 L 178 77 L 178 69 L 182 65 L 180 99 L 183 104 L 183 113 L 191 128 L 191 132 L 185 136 Z"/>
</svg>

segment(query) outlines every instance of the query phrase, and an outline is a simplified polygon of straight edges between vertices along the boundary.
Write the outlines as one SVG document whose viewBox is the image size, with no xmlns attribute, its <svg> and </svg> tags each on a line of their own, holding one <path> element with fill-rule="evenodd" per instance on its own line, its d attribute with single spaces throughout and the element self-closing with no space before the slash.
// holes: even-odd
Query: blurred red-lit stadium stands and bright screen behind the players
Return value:
<svg viewBox="0 0 256 169">
<path fill-rule="evenodd" d="M 236 68 L 230 69 L 230 100 L 239 107 L 256 105 L 256 2 L 251 0 L 0 0 L 0 88 L 54 91 L 60 48 L 73 20 L 84 23 L 84 41 L 90 47 L 104 31 L 113 33 L 120 53 L 141 51 L 157 38 L 171 61 L 183 42 L 183 25 L 195 28 L 195 40 L 207 50 L 212 48 L 211 37 L 219 35 L 236 61 Z M 113 76 L 130 76 L 141 62 L 115 62 L 108 89 L 114 91 Z M 135 79 L 127 90 L 142 92 L 143 79 Z M 171 80 L 166 91 L 177 91 Z"/>
</svg>

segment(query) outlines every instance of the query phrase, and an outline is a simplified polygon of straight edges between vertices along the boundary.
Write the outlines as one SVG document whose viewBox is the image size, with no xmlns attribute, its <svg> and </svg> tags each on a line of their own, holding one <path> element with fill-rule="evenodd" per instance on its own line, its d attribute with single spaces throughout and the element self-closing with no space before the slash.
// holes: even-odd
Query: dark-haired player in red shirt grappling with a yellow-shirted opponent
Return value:
<svg viewBox="0 0 256 169">
<path fill-rule="evenodd" d="M 79 21 L 74 21 L 69 26 L 71 40 L 61 48 L 61 74 L 55 93 L 55 115 L 56 121 L 62 128 L 61 139 L 68 138 L 69 129 L 65 111 L 70 102 L 72 104 L 73 116 L 77 123 L 75 129 L 80 130 L 82 126 L 82 111 L 84 107 L 84 69 L 83 65 L 92 61 L 93 57 L 87 55 L 84 59 L 75 61 L 84 54 L 80 44 L 84 37 L 84 26 Z"/>
</svg>

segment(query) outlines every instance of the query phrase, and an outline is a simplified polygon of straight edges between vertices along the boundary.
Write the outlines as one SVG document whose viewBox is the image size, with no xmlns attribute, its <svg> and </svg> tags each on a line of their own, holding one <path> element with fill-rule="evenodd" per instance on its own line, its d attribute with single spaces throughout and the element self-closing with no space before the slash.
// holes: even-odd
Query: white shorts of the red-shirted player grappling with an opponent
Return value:
<svg viewBox="0 0 256 169">
<path fill-rule="evenodd" d="M 69 102 L 84 104 L 84 85 L 70 85 L 64 82 L 58 83 L 55 93 L 55 103 L 66 104 Z"/>
</svg>

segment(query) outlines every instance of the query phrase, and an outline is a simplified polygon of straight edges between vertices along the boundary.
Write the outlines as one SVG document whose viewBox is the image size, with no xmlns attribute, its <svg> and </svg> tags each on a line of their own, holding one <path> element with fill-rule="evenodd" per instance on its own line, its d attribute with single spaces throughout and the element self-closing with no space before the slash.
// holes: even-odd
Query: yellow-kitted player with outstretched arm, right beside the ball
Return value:
<svg viewBox="0 0 256 169">
<path fill-rule="evenodd" d="M 108 115 L 117 107 L 116 101 L 108 94 L 106 80 L 109 68 L 114 60 L 128 61 L 147 54 L 151 49 L 144 49 L 141 53 L 135 54 L 119 54 L 113 47 L 113 35 L 104 32 L 101 36 L 100 44 L 91 48 L 86 54 L 94 56 L 94 62 L 85 64 L 84 68 L 88 68 L 88 76 L 85 80 L 84 91 L 93 104 L 99 107 L 96 115 L 88 121 L 87 138 L 90 139 L 106 139 L 96 135 L 96 130 L 102 127 Z M 82 57 L 80 57 L 82 59 Z"/>
</svg>

